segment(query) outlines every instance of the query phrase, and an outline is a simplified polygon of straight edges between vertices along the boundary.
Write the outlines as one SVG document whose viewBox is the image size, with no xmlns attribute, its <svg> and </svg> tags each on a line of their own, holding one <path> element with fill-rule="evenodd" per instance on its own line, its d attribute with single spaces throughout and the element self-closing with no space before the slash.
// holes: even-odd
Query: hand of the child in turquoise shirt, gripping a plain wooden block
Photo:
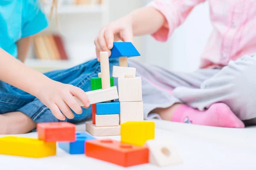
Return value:
<svg viewBox="0 0 256 170">
<path fill-rule="evenodd" d="M 52 111 L 52 114 L 60 120 L 65 120 L 66 117 L 68 119 L 74 118 L 75 115 L 70 108 L 76 114 L 82 113 L 81 106 L 76 102 L 73 96 L 79 98 L 85 108 L 89 108 L 90 106 L 90 101 L 85 92 L 81 88 L 73 85 L 67 85 L 51 80 L 38 90 L 38 99 L 40 99 L 40 101 Z"/>
</svg>

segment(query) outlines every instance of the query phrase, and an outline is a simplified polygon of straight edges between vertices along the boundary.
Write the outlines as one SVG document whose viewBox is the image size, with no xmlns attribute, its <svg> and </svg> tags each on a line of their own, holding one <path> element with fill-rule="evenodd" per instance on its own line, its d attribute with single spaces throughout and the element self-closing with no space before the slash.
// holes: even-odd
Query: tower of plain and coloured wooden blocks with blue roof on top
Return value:
<svg viewBox="0 0 256 170">
<path fill-rule="evenodd" d="M 113 86 L 113 78 L 118 78 L 119 101 L 113 101 L 116 93 L 102 94 L 98 97 L 101 102 L 92 105 L 93 121 L 86 122 L 86 130 L 93 136 L 120 135 L 120 124 L 128 121 L 143 121 L 143 101 L 141 77 L 136 77 L 136 68 L 128 67 L 127 58 L 140 56 L 140 53 L 131 42 L 114 42 L 111 56 L 107 51 L 100 52 L 101 73 L 91 78 L 91 91 L 108 91 Z M 119 66 L 113 66 L 113 75 L 110 77 L 109 58 L 119 57 Z M 110 99 L 109 101 L 107 101 Z M 90 100 L 90 97 L 89 97 Z"/>
</svg>

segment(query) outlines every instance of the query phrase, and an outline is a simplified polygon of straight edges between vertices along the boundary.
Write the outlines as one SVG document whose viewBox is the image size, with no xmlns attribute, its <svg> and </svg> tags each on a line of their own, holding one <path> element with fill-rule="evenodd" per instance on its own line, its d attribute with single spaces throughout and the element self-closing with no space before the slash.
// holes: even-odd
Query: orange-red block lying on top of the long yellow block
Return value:
<svg viewBox="0 0 256 170">
<path fill-rule="evenodd" d="M 44 142 L 73 142 L 76 125 L 68 122 L 38 123 L 38 139 Z"/>
</svg>

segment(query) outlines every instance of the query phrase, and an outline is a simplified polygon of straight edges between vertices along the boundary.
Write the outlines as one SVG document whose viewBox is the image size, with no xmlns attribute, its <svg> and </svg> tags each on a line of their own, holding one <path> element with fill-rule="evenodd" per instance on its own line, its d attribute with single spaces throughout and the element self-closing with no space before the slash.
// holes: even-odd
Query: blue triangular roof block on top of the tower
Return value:
<svg viewBox="0 0 256 170">
<path fill-rule="evenodd" d="M 110 58 L 115 57 L 135 57 L 140 56 L 140 53 L 131 42 L 114 42 L 111 49 Z"/>
</svg>

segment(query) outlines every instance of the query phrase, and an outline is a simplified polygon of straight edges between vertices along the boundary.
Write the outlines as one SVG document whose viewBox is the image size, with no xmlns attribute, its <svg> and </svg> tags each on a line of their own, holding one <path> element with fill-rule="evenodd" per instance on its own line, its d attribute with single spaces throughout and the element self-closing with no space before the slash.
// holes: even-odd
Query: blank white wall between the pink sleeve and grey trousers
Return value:
<svg viewBox="0 0 256 170">
<path fill-rule="evenodd" d="M 149 1 L 144 0 L 143 4 Z M 172 71 L 194 71 L 200 64 L 200 56 L 211 30 L 209 4 L 206 2 L 192 10 L 167 42 L 156 42 L 151 36 L 143 37 L 143 61 Z"/>
</svg>

